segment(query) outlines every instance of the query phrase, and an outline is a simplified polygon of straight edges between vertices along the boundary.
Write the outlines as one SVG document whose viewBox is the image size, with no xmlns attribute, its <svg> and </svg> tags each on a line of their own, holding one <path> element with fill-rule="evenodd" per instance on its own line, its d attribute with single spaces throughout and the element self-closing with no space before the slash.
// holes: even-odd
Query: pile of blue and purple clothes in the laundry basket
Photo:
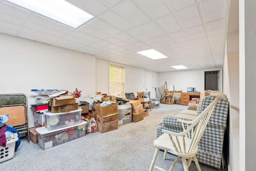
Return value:
<svg viewBox="0 0 256 171">
<path fill-rule="evenodd" d="M 15 144 L 16 151 L 20 145 L 20 133 L 13 126 L 5 124 L 8 121 L 8 117 L 9 114 L 0 115 L 0 146 L 6 147 L 7 141 L 18 137 L 18 141 Z"/>
</svg>

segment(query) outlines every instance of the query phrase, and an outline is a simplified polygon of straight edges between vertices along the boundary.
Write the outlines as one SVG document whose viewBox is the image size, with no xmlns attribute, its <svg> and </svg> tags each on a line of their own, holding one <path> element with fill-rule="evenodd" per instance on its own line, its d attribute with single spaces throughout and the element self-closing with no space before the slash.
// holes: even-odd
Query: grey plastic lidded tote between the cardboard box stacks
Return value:
<svg viewBox="0 0 256 171">
<path fill-rule="evenodd" d="M 118 126 L 132 122 L 132 105 L 118 105 Z"/>
</svg>

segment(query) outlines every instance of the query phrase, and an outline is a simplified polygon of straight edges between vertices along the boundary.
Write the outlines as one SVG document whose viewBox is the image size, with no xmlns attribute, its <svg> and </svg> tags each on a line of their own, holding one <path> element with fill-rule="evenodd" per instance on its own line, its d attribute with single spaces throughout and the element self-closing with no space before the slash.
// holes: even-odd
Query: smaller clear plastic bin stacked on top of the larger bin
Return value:
<svg viewBox="0 0 256 171">
<path fill-rule="evenodd" d="M 63 113 L 44 111 L 45 127 L 48 130 L 60 129 L 80 123 L 82 109 Z"/>
</svg>

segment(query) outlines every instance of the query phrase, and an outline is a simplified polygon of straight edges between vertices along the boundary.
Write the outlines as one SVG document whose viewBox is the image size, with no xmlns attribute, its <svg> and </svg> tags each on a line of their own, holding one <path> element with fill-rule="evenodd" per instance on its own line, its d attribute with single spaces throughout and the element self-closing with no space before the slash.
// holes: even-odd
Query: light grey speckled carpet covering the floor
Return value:
<svg viewBox="0 0 256 171">
<path fill-rule="evenodd" d="M 142 121 L 120 125 L 118 129 L 106 133 L 89 133 L 73 141 L 41 149 L 32 141 L 22 140 L 14 157 L 0 163 L 1 171 L 147 171 L 150 167 L 155 147 L 156 128 L 166 115 L 176 115 L 186 109 L 183 105 L 160 104 L 152 109 Z M 168 154 L 163 160 L 159 152 L 156 165 L 170 169 L 176 156 Z M 218 171 L 200 163 L 202 171 Z M 173 169 L 183 170 L 181 159 Z M 189 167 L 195 171 L 194 162 Z M 227 171 L 225 168 L 223 171 Z"/>
</svg>

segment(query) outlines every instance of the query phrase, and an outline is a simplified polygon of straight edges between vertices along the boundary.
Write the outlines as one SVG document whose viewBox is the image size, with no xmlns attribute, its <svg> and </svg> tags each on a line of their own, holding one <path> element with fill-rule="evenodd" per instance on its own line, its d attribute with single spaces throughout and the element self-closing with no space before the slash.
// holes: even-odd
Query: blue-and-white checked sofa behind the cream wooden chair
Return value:
<svg viewBox="0 0 256 171">
<path fill-rule="evenodd" d="M 159 123 L 157 128 L 157 137 L 162 135 L 162 130 L 166 129 L 173 132 L 183 131 L 181 123 L 177 121 L 177 118 L 184 120 L 193 120 L 196 115 L 199 114 L 212 102 L 216 97 L 220 97 L 221 100 L 217 103 L 212 117 L 204 131 L 200 142 L 198 143 L 198 153 L 196 155 L 199 162 L 212 167 L 220 169 L 223 159 L 223 142 L 226 128 L 226 121 L 228 117 L 229 102 L 226 95 L 220 92 L 211 93 L 200 101 L 196 114 L 189 114 L 186 110 L 181 111 L 175 116 L 166 116 L 163 121 Z M 191 110 L 192 111 L 192 110 Z M 193 112 L 192 112 L 193 113 Z"/>
</svg>

